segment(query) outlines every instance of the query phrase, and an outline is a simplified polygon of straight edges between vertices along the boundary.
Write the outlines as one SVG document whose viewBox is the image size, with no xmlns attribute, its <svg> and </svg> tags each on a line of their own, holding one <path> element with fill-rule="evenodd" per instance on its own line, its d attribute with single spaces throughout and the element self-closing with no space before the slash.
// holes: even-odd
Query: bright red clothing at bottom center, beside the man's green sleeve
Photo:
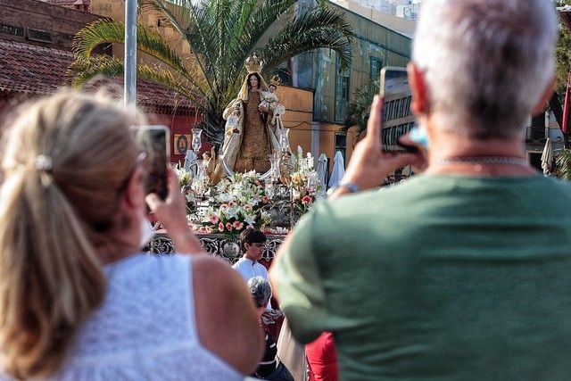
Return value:
<svg viewBox="0 0 571 381">
<path fill-rule="evenodd" d="M 316 341 L 306 344 L 305 356 L 310 366 L 310 381 L 337 381 L 339 379 L 333 334 L 324 332 Z"/>
</svg>

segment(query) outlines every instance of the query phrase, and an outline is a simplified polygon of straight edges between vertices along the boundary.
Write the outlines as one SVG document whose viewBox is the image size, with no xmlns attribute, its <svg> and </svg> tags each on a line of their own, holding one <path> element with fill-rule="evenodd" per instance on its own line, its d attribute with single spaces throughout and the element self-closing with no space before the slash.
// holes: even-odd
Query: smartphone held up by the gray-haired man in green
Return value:
<svg viewBox="0 0 571 381">
<path fill-rule="evenodd" d="M 410 110 L 412 95 L 405 68 L 385 66 L 381 70 L 379 94 L 383 97 L 381 143 L 385 152 L 417 152 L 414 146 L 402 145 L 401 136 L 415 126 Z"/>
</svg>

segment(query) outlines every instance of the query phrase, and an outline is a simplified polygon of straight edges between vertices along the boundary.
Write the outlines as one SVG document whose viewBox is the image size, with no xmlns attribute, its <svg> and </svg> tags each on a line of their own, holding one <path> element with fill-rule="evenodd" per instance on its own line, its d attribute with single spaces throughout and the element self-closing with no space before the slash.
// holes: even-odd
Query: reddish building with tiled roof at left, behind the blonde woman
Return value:
<svg viewBox="0 0 571 381">
<path fill-rule="evenodd" d="M 87 24 L 105 19 L 92 12 L 87 0 L 0 0 L 0 117 L 21 101 L 69 85 L 73 37 Z M 101 46 L 97 53 L 112 54 L 112 48 Z M 122 79 L 102 83 L 122 95 Z M 86 89 L 95 91 L 97 85 Z M 200 121 L 186 99 L 140 80 L 137 104 L 150 121 L 170 127 L 171 136 L 186 133 L 188 126 Z M 175 161 L 184 160 L 174 147 L 172 152 Z"/>
</svg>

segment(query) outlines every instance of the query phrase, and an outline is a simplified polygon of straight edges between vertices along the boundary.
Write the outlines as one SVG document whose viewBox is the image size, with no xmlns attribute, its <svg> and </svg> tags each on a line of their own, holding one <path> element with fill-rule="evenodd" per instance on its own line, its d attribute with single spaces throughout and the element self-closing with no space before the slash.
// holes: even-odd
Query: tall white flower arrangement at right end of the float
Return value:
<svg viewBox="0 0 571 381">
<path fill-rule="evenodd" d="M 321 189 L 319 174 L 313 169 L 311 153 L 303 157 L 302 151 L 298 151 L 291 178 L 294 208 L 303 214 L 310 210 Z"/>
</svg>

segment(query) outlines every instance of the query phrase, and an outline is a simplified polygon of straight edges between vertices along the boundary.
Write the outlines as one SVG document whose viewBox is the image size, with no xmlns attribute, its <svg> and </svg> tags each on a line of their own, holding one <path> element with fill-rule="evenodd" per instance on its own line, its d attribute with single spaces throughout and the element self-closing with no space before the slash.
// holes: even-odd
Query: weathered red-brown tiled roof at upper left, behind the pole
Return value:
<svg viewBox="0 0 571 381">
<path fill-rule="evenodd" d="M 71 52 L 3 39 L 0 52 L 0 91 L 51 94 L 66 85 Z M 122 87 L 122 79 L 112 82 Z M 157 113 L 188 114 L 194 110 L 188 100 L 174 92 L 141 80 L 137 80 L 137 104 Z"/>
</svg>

